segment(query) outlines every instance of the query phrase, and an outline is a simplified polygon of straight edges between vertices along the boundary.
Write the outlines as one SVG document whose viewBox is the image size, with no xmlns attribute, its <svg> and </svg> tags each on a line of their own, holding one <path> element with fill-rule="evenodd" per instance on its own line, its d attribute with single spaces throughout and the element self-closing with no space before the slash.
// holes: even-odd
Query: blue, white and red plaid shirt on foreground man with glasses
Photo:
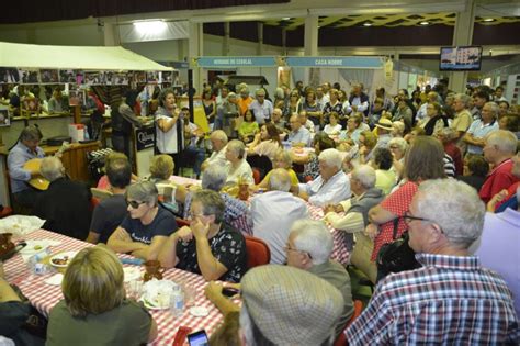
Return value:
<svg viewBox="0 0 520 346">
<path fill-rule="evenodd" d="M 478 257 L 417 254 L 423 267 L 389 275 L 344 332 L 349 345 L 520 344 L 506 282 Z"/>
</svg>

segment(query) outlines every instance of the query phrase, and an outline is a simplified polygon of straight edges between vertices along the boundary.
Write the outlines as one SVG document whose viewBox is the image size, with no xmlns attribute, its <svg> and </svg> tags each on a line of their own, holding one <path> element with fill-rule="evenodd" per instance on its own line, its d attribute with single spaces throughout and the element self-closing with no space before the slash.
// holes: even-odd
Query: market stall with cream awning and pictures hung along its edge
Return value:
<svg viewBox="0 0 520 346">
<path fill-rule="evenodd" d="M 0 88 L 11 91 L 18 98 L 13 104 L 11 99 L 3 99 L 2 104 L 9 126 L 0 127 L 0 138 L 4 146 L 0 152 L 0 203 L 10 205 L 5 157 L 8 149 L 18 141 L 20 131 L 27 124 L 37 123 L 44 134 L 44 141 L 55 136 L 69 136 L 69 125 L 81 122 L 82 111 L 88 99 L 86 89 L 91 86 L 127 87 L 146 83 L 171 83 L 173 68 L 157 64 L 146 57 L 135 54 L 123 47 L 95 46 L 50 46 L 0 42 Z M 10 87 L 16 86 L 16 91 Z M 37 88 L 34 88 L 37 86 Z M 54 101 L 54 104 L 44 104 L 41 94 L 45 94 L 39 86 L 59 86 L 68 92 L 65 100 Z M 32 88 L 30 88 L 32 87 Z M 32 91 L 35 91 L 34 94 Z M 39 92 L 41 91 L 41 92 Z M 9 92 L 3 92 L 7 96 Z M 117 94 L 109 92 L 109 96 Z M 118 93 L 121 98 L 121 93 Z M 49 96 L 47 96 L 47 99 Z M 106 104 L 106 102 L 105 102 Z M 57 105 L 57 107 L 56 107 Z M 101 104 L 102 105 L 102 104 Z M 7 113 L 7 114 L 5 114 Z M 14 116 L 15 115 L 15 116 Z M 83 114 L 84 115 L 84 114 Z M 78 129 L 80 129 L 78 126 Z M 75 136 L 76 141 L 86 139 Z M 0 142 L 0 144 L 1 144 Z M 134 143 L 136 143 L 134 138 Z M 88 180 L 86 153 L 99 148 L 98 142 L 89 145 L 77 144 L 66 157 L 74 157 L 70 161 L 69 174 L 78 180 Z M 44 148 L 45 149 L 45 148 Z M 52 152 L 52 148 L 47 148 Z M 87 150 L 87 152 L 86 152 Z M 149 165 L 154 148 L 139 160 L 142 165 Z M 78 155 L 74 153 L 80 153 Z M 74 163 L 72 163 L 74 160 Z M 67 160 L 68 161 L 68 160 Z M 83 170 L 84 172 L 79 171 Z"/>
</svg>

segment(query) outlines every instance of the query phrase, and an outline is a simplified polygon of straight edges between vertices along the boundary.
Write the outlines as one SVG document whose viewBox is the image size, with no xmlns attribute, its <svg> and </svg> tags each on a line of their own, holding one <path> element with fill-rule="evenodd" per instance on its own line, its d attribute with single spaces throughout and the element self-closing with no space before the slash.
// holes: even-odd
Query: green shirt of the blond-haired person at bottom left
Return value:
<svg viewBox="0 0 520 346">
<path fill-rule="evenodd" d="M 148 342 L 151 316 L 135 301 L 123 303 L 99 315 L 72 317 L 65 300 L 52 310 L 46 345 L 140 345 Z"/>
</svg>

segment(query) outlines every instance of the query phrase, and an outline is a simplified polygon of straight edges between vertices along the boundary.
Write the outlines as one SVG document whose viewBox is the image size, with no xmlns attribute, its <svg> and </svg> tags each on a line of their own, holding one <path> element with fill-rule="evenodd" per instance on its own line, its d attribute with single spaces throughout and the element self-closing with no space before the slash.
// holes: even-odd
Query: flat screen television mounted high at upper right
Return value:
<svg viewBox="0 0 520 346">
<path fill-rule="evenodd" d="M 441 47 L 441 71 L 478 71 L 481 63 L 481 46 Z"/>
</svg>

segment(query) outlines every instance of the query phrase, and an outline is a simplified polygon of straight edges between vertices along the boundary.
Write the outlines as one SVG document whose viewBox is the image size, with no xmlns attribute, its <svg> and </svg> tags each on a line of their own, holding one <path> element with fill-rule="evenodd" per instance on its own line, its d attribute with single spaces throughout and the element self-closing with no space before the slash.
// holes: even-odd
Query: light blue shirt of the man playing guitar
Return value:
<svg viewBox="0 0 520 346">
<path fill-rule="evenodd" d="M 31 172 L 23 169 L 23 165 L 30 159 L 44 157 L 44 150 L 39 146 L 36 147 L 36 153 L 34 153 L 22 142 L 16 143 L 8 156 L 11 193 L 18 193 L 30 188 L 26 181 L 31 180 Z"/>
</svg>

